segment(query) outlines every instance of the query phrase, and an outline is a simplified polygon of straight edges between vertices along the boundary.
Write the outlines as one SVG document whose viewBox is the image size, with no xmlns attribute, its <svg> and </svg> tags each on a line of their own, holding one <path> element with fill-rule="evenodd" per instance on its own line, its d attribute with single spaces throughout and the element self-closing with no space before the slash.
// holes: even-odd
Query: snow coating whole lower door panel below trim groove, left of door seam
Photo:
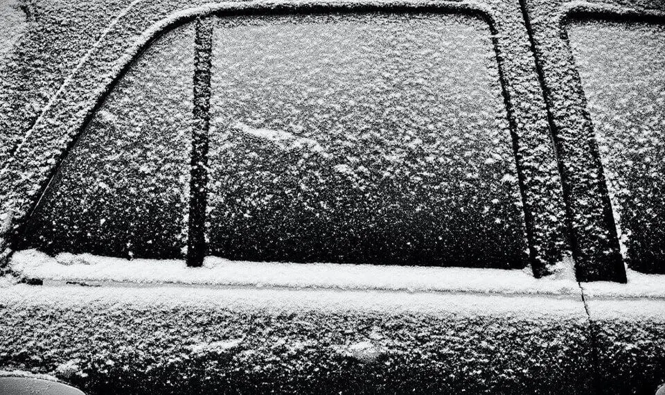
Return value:
<svg viewBox="0 0 665 395">
<path fill-rule="evenodd" d="M 69 380 L 89 393 L 190 392 L 203 378 L 250 393 L 513 392 L 540 389 L 544 367 L 576 388 L 588 353 L 578 296 L 45 283 L 3 288 L 0 306 L 9 365 L 76 365 L 86 376 Z"/>
</svg>

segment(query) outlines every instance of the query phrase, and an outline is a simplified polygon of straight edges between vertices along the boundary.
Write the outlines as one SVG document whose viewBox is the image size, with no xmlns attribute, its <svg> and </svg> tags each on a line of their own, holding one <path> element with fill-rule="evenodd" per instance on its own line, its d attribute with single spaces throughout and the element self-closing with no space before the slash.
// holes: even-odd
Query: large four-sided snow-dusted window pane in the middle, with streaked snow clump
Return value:
<svg viewBox="0 0 665 395">
<path fill-rule="evenodd" d="M 211 253 L 523 267 L 511 133 L 485 21 L 222 17 Z"/>
</svg>

